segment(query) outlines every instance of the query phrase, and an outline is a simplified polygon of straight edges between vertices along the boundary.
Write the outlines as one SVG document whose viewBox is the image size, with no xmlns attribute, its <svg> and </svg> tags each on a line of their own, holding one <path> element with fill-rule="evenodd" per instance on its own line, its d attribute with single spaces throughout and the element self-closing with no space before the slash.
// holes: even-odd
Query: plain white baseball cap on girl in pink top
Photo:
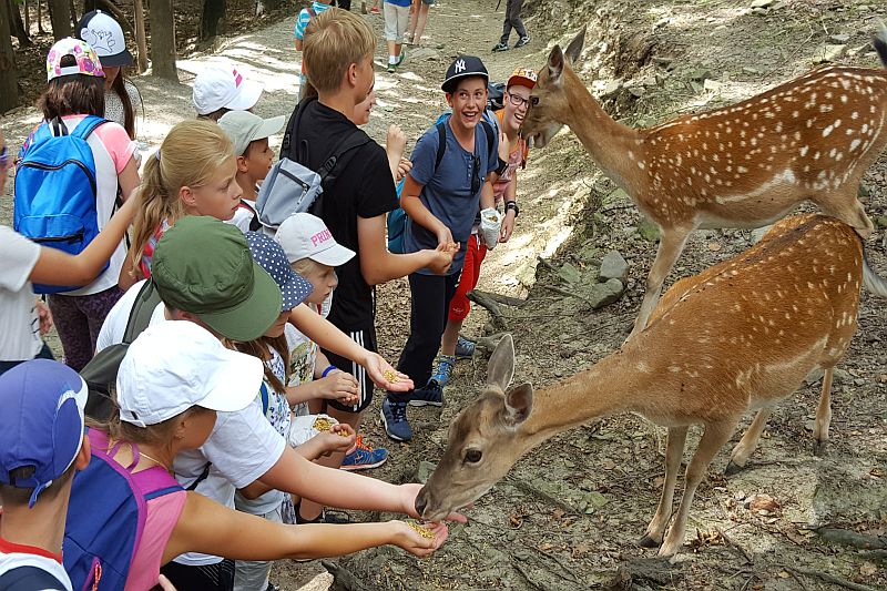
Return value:
<svg viewBox="0 0 887 591">
<path fill-rule="evenodd" d="M 258 395 L 263 375 L 257 357 L 225 348 L 205 328 L 162 322 L 139 335 L 120 364 L 120 419 L 144 428 L 192 406 L 242 410 Z"/>
</svg>

